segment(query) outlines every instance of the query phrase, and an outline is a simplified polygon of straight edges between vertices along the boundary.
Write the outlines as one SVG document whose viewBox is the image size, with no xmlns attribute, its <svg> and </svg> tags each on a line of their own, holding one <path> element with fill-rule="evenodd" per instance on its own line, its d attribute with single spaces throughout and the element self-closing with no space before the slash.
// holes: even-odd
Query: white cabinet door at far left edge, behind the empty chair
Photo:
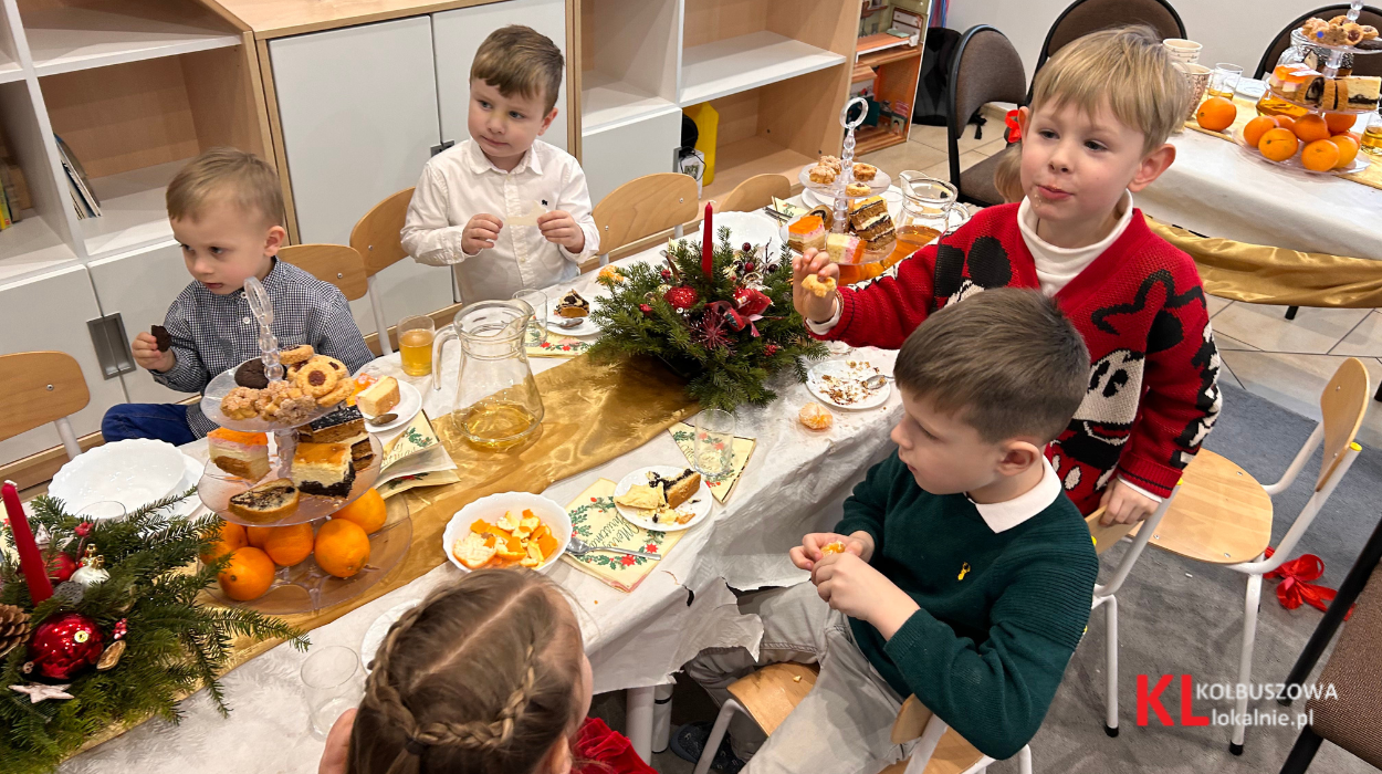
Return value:
<svg viewBox="0 0 1382 774">
<path fill-rule="evenodd" d="M 101 428 L 105 409 L 124 402 L 119 379 L 104 379 L 87 333 L 87 321 L 101 317 L 86 267 L 76 265 L 0 286 L 0 354 L 54 350 L 77 359 L 91 402 L 72 415 L 77 435 Z M 0 463 L 61 445 L 53 424 L 0 441 Z"/>
</svg>

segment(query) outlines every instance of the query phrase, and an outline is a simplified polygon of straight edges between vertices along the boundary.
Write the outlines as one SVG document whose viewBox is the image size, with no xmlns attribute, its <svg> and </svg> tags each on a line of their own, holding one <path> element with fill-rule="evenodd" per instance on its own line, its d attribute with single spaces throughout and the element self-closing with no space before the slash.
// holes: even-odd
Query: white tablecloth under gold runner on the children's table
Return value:
<svg viewBox="0 0 1382 774">
<path fill-rule="evenodd" d="M 619 264 L 661 261 L 658 249 Z M 589 297 L 594 275 L 583 275 L 571 286 L 553 287 L 549 297 L 568 287 Z M 855 350 L 850 357 L 867 358 L 891 372 L 896 352 L 868 348 Z M 379 358 L 370 368 L 419 387 L 423 406 L 435 420 L 452 408 L 459 359 L 460 347 L 449 344 L 441 391 L 431 390 L 430 377 L 404 376 L 397 354 Z M 531 361 L 535 373 L 562 362 L 560 358 Z M 833 525 L 840 516 L 839 503 L 862 480 L 868 466 L 891 452 L 889 431 L 901 413 L 896 390 L 883 406 L 837 412 L 831 431 L 811 434 L 796 422 L 797 409 L 813 399 L 806 386 L 782 377 L 775 388 L 779 399 L 773 405 L 738 412 L 738 434 L 757 438 L 757 448 L 728 502 L 713 506 L 708 524 L 687 531 L 633 593 L 611 589 L 567 564 L 551 569 L 551 576 L 580 607 L 596 692 L 668 683 L 673 672 L 706 647 L 756 647 L 761 625 L 755 616 L 738 614 L 726 582 L 738 589 L 755 589 L 804 579 L 806 574 L 788 561 L 788 549 L 797 545 L 804 532 Z M 205 459 L 206 444 L 199 441 L 184 451 Z M 685 464 L 668 433 L 622 457 L 558 481 L 543 495 L 565 504 L 600 477 L 618 481 L 633 469 L 659 463 Z M 434 550 L 442 547 L 438 545 Z M 383 612 L 422 598 L 438 583 L 453 582 L 459 575 L 445 563 L 314 629 L 312 647 L 341 644 L 358 651 L 365 630 Z M 279 645 L 224 679 L 232 708 L 229 719 L 221 719 L 200 691 L 184 702 L 187 717 L 180 726 L 158 720 L 145 723 L 69 760 L 62 771 L 185 774 L 189 766 L 202 771 L 260 774 L 314 771 L 322 742 L 307 727 L 307 702 L 297 676 L 304 659 L 305 654 Z"/>
</svg>

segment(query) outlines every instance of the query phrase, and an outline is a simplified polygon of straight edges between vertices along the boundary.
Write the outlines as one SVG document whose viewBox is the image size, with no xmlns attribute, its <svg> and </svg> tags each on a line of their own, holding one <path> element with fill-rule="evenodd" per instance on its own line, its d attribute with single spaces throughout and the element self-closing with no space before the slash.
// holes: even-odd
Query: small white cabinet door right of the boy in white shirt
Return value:
<svg viewBox="0 0 1382 774">
<path fill-rule="evenodd" d="M 590 202 L 636 177 L 672 170 L 672 153 L 681 142 L 681 109 L 669 106 L 650 117 L 604 129 L 580 138 L 580 167 L 586 170 Z"/>
</svg>

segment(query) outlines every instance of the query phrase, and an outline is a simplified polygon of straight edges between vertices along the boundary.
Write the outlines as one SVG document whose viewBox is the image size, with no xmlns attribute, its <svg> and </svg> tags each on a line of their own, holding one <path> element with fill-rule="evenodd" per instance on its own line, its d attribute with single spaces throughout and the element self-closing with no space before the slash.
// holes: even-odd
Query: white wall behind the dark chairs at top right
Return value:
<svg viewBox="0 0 1382 774">
<path fill-rule="evenodd" d="M 1056 17 L 1072 0 L 951 0 L 945 23 L 966 29 L 987 23 L 998 28 L 1023 57 L 1027 80 L 1032 77 L 1036 55 Z M 1325 6 L 1324 0 L 1171 0 L 1186 23 L 1190 40 L 1204 44 L 1200 64 L 1233 62 L 1252 75 L 1267 43 L 1296 17 Z M 1370 3 L 1375 4 L 1375 3 Z"/>
</svg>

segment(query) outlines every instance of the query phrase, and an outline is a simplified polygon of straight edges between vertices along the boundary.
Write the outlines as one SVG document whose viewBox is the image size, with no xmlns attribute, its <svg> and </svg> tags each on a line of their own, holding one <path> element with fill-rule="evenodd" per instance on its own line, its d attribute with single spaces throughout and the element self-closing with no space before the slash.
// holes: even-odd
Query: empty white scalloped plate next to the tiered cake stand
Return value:
<svg viewBox="0 0 1382 774">
<path fill-rule="evenodd" d="M 185 473 L 182 452 L 173 444 L 127 438 L 90 449 L 62 466 L 48 495 L 61 499 L 68 513 L 101 500 L 116 500 L 133 511 L 173 493 Z"/>
</svg>

